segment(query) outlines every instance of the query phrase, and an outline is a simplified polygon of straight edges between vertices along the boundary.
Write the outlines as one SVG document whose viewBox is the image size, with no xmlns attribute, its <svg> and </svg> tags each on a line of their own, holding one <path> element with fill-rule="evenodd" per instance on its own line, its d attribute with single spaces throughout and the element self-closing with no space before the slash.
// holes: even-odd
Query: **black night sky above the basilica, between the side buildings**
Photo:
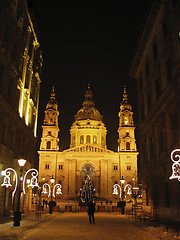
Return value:
<svg viewBox="0 0 180 240">
<path fill-rule="evenodd" d="M 60 11 L 58 1 L 36 0 L 33 4 L 44 59 L 39 138 L 54 84 L 60 112 L 60 150 L 69 148 L 69 130 L 90 83 L 95 107 L 103 115 L 108 131 L 107 147 L 117 151 L 118 113 L 124 85 L 137 124 L 136 82 L 129 79 L 128 72 L 148 1 L 112 2 L 106 10 L 94 7 L 92 11 Z"/>
</svg>

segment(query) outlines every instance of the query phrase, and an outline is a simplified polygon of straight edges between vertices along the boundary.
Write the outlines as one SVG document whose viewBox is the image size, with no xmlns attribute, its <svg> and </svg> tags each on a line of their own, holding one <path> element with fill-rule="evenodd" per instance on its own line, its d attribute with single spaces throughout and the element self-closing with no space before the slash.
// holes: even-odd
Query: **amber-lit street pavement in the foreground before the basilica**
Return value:
<svg viewBox="0 0 180 240">
<path fill-rule="evenodd" d="M 165 229 L 147 226 L 138 220 L 115 213 L 96 213 L 95 224 L 89 224 L 86 213 L 53 213 L 35 219 L 34 215 L 24 215 L 21 226 L 13 223 L 0 224 L 0 239 L 113 239 L 113 240 L 155 240 L 178 239 L 175 233 L 165 233 Z"/>
</svg>

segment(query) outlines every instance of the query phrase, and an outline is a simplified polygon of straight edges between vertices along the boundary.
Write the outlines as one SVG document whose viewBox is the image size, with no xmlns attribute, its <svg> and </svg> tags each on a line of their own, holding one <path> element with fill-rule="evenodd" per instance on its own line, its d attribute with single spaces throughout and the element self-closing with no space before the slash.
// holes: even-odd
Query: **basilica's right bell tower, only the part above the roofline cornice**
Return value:
<svg viewBox="0 0 180 240">
<path fill-rule="evenodd" d="M 135 140 L 135 126 L 133 121 L 133 111 L 128 103 L 128 95 L 126 87 L 124 87 L 123 101 L 120 105 L 119 112 L 119 151 L 137 151 Z"/>
</svg>

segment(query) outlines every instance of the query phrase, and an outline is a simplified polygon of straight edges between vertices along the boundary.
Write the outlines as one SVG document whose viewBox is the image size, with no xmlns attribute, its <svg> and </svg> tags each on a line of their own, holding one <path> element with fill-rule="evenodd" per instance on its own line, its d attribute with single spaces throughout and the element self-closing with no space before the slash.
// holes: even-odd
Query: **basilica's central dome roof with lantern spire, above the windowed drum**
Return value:
<svg viewBox="0 0 180 240">
<path fill-rule="evenodd" d="M 83 107 L 77 112 L 75 115 L 75 120 L 96 120 L 102 121 L 103 117 L 100 112 L 95 108 L 95 104 L 93 101 L 93 93 L 90 89 L 90 85 L 88 84 L 88 90 L 85 92 L 85 100 L 83 102 Z"/>
</svg>

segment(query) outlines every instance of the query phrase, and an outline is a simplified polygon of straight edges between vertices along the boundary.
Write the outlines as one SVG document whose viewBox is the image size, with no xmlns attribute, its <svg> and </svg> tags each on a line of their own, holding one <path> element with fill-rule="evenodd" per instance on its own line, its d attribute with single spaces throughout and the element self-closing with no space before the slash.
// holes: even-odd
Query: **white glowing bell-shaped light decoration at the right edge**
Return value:
<svg viewBox="0 0 180 240">
<path fill-rule="evenodd" d="M 180 149 L 175 149 L 171 152 L 172 175 L 169 179 L 177 178 L 180 181 Z"/>
</svg>

